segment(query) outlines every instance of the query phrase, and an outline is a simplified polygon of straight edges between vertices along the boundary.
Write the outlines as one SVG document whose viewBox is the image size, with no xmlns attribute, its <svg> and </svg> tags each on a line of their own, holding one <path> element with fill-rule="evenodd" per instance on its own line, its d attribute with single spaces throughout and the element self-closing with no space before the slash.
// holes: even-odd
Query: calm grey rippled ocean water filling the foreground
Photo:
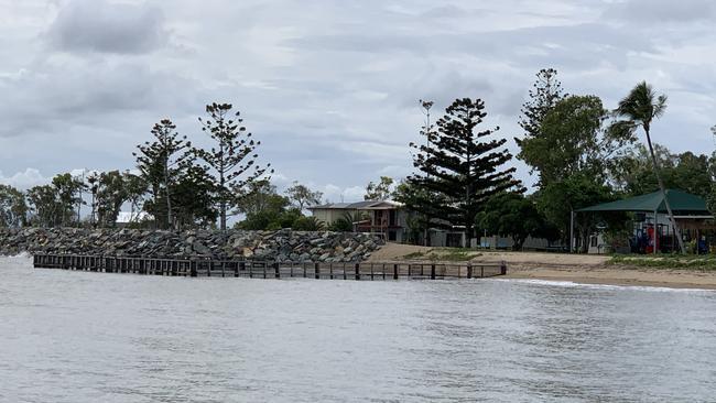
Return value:
<svg viewBox="0 0 716 403">
<path fill-rule="evenodd" d="M 0 402 L 716 402 L 716 292 L 0 258 Z"/>
</svg>

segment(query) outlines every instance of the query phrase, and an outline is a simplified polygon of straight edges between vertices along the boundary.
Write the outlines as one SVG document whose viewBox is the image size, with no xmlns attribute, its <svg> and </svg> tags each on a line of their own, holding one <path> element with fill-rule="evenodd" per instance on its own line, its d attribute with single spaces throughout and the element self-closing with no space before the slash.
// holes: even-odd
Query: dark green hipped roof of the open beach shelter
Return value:
<svg viewBox="0 0 716 403">
<path fill-rule="evenodd" d="M 676 189 L 666 189 L 666 197 L 669 198 L 671 209 L 673 211 L 679 211 L 681 215 L 712 216 L 708 208 L 706 208 L 706 200 L 696 195 Z M 648 195 L 581 208 L 577 211 L 666 213 L 666 205 L 664 204 L 664 197 L 662 196 L 661 190 L 659 190 Z"/>
</svg>

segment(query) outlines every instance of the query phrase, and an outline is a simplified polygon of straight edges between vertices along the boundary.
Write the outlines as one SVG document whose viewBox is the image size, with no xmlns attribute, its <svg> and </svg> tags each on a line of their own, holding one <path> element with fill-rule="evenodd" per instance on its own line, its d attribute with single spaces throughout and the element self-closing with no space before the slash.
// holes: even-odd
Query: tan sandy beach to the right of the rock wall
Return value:
<svg viewBox="0 0 716 403">
<path fill-rule="evenodd" d="M 440 253 L 444 249 L 388 243 L 371 255 L 371 261 L 400 260 L 419 253 Z M 507 279 L 571 281 L 584 284 L 662 286 L 716 290 L 716 272 L 694 269 L 652 269 L 607 264 L 609 257 L 544 252 L 471 251 L 474 262 L 500 262 L 508 266 Z"/>
</svg>

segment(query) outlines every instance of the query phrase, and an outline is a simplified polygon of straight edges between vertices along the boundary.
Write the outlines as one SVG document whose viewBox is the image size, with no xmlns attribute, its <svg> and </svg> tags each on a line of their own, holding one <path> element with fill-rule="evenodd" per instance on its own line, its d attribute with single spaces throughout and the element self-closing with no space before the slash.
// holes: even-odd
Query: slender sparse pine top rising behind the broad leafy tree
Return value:
<svg viewBox="0 0 716 403">
<path fill-rule="evenodd" d="M 539 138 L 542 129 L 542 121 L 550 110 L 565 96 L 562 90 L 562 83 L 557 79 L 557 70 L 543 68 L 536 74 L 536 80 L 529 92 L 529 100 L 522 105 L 522 115 L 518 123 L 524 130 L 523 139 L 514 139 L 518 145 L 523 140 Z M 522 153 L 518 154 L 522 159 Z"/>
</svg>

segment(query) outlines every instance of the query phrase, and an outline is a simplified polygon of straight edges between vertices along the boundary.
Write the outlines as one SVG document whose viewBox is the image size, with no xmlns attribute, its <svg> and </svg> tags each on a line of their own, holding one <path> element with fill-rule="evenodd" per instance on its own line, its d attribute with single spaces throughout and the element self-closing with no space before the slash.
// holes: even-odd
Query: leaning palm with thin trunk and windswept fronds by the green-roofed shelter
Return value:
<svg viewBox="0 0 716 403">
<path fill-rule="evenodd" d="M 657 95 L 653 88 L 647 84 L 647 81 L 641 81 L 629 92 L 627 97 L 619 101 L 619 107 L 615 109 L 615 115 L 622 118 L 623 120 L 615 123 L 617 130 L 627 130 L 632 132 L 637 128 L 641 127 L 647 133 L 647 143 L 649 144 L 649 153 L 651 154 L 651 162 L 654 167 L 654 174 L 657 175 L 657 181 L 659 181 L 659 187 L 661 188 L 661 195 L 664 198 L 664 204 L 666 205 L 666 211 L 669 213 L 669 219 L 671 225 L 674 228 L 674 233 L 679 240 L 679 248 L 682 253 L 685 253 L 684 241 L 681 239 L 681 231 L 674 220 L 674 214 L 671 210 L 671 205 L 666 198 L 666 188 L 664 187 L 664 182 L 661 178 L 659 160 L 654 154 L 654 148 L 651 144 L 651 122 L 664 115 L 666 110 L 666 96 L 661 94 Z"/>
</svg>

